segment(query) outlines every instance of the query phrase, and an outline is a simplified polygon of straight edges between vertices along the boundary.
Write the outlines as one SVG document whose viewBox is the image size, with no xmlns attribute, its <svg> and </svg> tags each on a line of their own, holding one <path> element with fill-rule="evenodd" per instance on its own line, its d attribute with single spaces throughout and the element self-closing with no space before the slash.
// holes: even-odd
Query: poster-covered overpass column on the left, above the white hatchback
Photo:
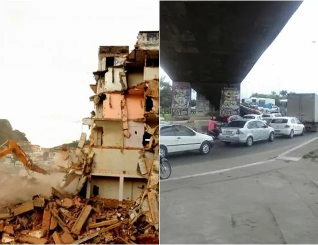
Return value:
<svg viewBox="0 0 318 245">
<path fill-rule="evenodd" d="M 191 112 L 190 82 L 172 82 L 172 120 L 189 120 Z"/>
</svg>

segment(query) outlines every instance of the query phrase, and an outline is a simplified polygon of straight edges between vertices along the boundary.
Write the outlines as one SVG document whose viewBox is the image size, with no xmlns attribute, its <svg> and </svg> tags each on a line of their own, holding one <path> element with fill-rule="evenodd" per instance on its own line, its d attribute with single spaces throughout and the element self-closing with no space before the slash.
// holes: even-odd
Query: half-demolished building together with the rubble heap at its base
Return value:
<svg viewBox="0 0 318 245">
<path fill-rule="evenodd" d="M 52 196 L 2 209 L 2 243 L 159 243 L 159 32 L 100 46 L 93 76 L 89 145 L 55 154 Z"/>
</svg>

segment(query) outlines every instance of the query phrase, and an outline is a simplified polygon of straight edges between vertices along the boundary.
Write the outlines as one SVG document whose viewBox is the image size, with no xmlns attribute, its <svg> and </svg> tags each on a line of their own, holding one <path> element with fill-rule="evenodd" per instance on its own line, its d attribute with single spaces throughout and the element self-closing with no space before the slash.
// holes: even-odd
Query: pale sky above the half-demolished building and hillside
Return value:
<svg viewBox="0 0 318 245">
<path fill-rule="evenodd" d="M 89 135 L 99 46 L 132 50 L 147 30 L 159 30 L 159 1 L 0 0 L 0 118 L 42 147 Z"/>
</svg>

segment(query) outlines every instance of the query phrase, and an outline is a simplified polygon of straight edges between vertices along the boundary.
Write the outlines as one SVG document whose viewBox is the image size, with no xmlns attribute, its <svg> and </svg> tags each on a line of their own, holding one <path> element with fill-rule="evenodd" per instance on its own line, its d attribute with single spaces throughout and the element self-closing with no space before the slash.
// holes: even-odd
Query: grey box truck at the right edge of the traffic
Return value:
<svg viewBox="0 0 318 245">
<path fill-rule="evenodd" d="M 297 117 L 307 132 L 318 129 L 318 94 L 290 93 L 287 96 L 287 116 Z"/>
</svg>

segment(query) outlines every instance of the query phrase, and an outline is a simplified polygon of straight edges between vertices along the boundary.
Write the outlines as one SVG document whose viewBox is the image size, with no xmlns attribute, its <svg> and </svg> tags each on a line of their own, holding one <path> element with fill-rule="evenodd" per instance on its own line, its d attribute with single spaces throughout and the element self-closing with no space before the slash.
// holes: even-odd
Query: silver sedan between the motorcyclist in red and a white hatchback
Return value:
<svg viewBox="0 0 318 245">
<path fill-rule="evenodd" d="M 256 141 L 274 141 L 275 132 L 272 127 L 269 127 L 260 120 L 241 119 L 232 121 L 222 128 L 219 138 L 225 145 L 243 143 L 246 146 L 251 146 Z"/>
</svg>

